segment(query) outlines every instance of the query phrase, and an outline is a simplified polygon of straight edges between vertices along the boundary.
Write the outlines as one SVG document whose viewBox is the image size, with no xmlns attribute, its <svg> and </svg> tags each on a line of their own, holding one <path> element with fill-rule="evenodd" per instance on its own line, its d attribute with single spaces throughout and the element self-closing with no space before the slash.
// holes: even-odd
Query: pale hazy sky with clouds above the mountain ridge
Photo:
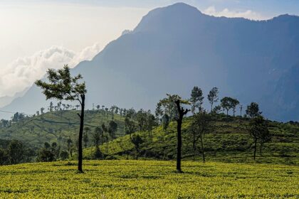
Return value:
<svg viewBox="0 0 299 199">
<path fill-rule="evenodd" d="M 172 0 L 0 1 L 0 97 L 43 77 L 46 68 L 91 59 L 142 16 Z M 297 0 L 189 0 L 214 16 L 266 19 L 299 15 Z"/>
</svg>

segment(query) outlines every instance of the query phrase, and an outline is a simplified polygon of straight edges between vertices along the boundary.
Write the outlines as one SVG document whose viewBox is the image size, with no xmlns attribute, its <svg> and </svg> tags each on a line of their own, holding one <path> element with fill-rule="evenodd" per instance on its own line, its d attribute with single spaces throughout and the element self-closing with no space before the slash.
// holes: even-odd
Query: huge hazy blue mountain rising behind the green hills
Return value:
<svg viewBox="0 0 299 199">
<path fill-rule="evenodd" d="M 267 21 L 214 17 L 179 3 L 150 11 L 133 31 L 125 31 L 72 72 L 85 78 L 89 107 L 153 109 L 166 93 L 189 97 L 197 85 L 206 95 L 216 86 L 221 97 L 236 97 L 243 105 L 260 103 L 270 119 L 299 120 L 293 114 L 299 110 L 294 95 L 298 82 L 288 82 L 294 87 L 279 92 L 286 86 L 283 78 L 299 63 L 298 44 L 298 16 Z M 283 98 L 279 107 L 275 96 Z M 5 109 L 33 113 L 49 104 L 44 99 L 33 86 Z"/>
</svg>

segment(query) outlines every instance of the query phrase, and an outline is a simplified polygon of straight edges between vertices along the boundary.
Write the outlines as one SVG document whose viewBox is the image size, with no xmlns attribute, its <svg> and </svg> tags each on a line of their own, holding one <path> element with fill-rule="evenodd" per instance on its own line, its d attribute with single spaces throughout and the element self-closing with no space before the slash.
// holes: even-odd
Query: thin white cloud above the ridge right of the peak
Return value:
<svg viewBox="0 0 299 199">
<path fill-rule="evenodd" d="M 253 20 L 264 20 L 267 19 L 265 16 L 262 16 L 261 14 L 258 14 L 251 10 L 246 11 L 231 11 L 229 9 L 223 9 L 222 11 L 216 11 L 214 6 L 209 6 L 207 9 L 205 9 L 204 14 L 208 14 L 211 16 L 226 16 L 229 18 L 235 18 L 235 17 L 243 17 Z"/>
</svg>

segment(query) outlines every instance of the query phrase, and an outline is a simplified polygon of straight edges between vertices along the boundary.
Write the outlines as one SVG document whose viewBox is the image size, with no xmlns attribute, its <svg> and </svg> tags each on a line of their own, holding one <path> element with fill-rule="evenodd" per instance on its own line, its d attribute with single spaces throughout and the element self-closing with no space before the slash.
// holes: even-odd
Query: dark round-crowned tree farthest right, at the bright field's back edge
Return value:
<svg viewBox="0 0 299 199">
<path fill-rule="evenodd" d="M 249 122 L 248 131 L 253 138 L 253 159 L 256 160 L 256 146 L 258 140 L 263 140 L 265 143 L 271 135 L 268 130 L 268 122 L 262 116 L 253 117 Z"/>
</svg>

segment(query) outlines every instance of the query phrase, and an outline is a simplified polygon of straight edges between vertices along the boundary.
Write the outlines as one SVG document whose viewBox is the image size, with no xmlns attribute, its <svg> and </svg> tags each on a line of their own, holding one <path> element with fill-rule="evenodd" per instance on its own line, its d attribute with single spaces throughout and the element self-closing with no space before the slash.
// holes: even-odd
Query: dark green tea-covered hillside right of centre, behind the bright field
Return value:
<svg viewBox="0 0 299 199">
<path fill-rule="evenodd" d="M 192 117 L 184 120 L 182 155 L 184 159 L 193 159 L 193 148 L 188 127 Z M 207 161 L 224 162 L 253 162 L 253 139 L 246 130 L 247 119 L 239 117 L 226 117 L 219 115 L 214 118 L 215 130 L 204 136 L 204 149 Z M 270 122 L 269 130 L 272 140 L 263 146 L 262 154 L 257 153 L 257 162 L 261 163 L 287 163 L 299 165 L 299 127 L 294 124 Z M 140 149 L 142 158 L 159 158 L 171 160 L 176 158 L 176 123 L 172 122 L 165 132 L 162 127 L 152 131 L 152 141 L 148 139 L 148 132 L 137 132 L 145 141 Z M 199 144 L 198 144 L 199 146 Z M 101 146 L 105 153 L 105 146 Z M 93 149 L 85 149 L 85 158 L 90 158 Z M 110 141 L 107 156 L 127 158 L 127 151 L 134 153 L 134 146 L 130 136 L 122 136 Z M 132 155 L 129 156 L 132 158 Z M 201 160 L 200 151 L 196 152 L 197 160 Z"/>
</svg>

